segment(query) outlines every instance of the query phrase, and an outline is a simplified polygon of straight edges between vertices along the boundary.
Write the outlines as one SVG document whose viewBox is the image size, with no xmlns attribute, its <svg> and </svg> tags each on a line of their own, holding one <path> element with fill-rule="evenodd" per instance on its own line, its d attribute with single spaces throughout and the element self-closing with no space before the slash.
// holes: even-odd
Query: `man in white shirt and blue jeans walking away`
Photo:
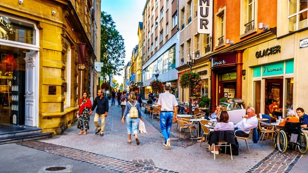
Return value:
<svg viewBox="0 0 308 173">
<path fill-rule="evenodd" d="M 178 101 L 174 94 L 171 94 L 170 85 L 164 85 L 164 93 L 159 94 L 158 109 L 160 114 L 160 126 L 162 134 L 165 138 L 164 146 L 170 149 L 170 130 L 172 125 L 173 114 L 175 113 L 175 120 L 177 121 L 177 106 Z"/>
</svg>

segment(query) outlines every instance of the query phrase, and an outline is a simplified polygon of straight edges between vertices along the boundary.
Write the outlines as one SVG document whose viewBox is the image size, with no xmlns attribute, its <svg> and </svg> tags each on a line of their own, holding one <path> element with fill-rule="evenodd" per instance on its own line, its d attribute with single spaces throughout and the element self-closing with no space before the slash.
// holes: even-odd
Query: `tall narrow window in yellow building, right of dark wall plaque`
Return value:
<svg viewBox="0 0 308 173">
<path fill-rule="evenodd" d="M 65 70 L 64 70 L 64 80 L 66 86 L 64 86 L 64 108 L 70 107 L 70 86 L 71 86 L 71 48 L 68 42 L 65 43 L 66 55 L 65 55 Z"/>
</svg>

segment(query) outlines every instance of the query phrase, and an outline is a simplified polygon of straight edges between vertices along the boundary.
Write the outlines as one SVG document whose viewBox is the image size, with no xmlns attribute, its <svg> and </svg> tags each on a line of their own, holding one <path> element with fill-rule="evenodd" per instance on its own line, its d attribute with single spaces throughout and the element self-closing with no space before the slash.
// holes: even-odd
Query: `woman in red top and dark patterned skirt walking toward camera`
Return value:
<svg viewBox="0 0 308 173">
<path fill-rule="evenodd" d="M 81 134 L 87 134 L 89 130 L 89 121 L 90 121 L 90 115 L 89 110 L 92 108 L 91 100 L 88 97 L 88 93 L 84 92 L 83 97 L 79 101 L 79 119 L 78 119 L 78 125 L 77 128 L 79 128 L 81 131 L 78 133 Z M 84 131 L 84 125 L 85 125 L 85 131 Z"/>
</svg>

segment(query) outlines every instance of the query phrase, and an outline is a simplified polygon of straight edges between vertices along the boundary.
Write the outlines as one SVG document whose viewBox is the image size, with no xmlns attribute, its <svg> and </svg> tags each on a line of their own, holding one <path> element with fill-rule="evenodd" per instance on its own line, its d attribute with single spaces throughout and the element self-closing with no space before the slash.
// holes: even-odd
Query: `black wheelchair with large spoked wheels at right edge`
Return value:
<svg viewBox="0 0 308 173">
<path fill-rule="evenodd" d="M 300 127 L 301 123 L 286 122 L 285 126 L 278 132 L 274 147 L 284 153 L 287 148 L 299 150 L 300 153 L 306 153 L 308 150 L 307 133 L 303 132 Z"/>
</svg>

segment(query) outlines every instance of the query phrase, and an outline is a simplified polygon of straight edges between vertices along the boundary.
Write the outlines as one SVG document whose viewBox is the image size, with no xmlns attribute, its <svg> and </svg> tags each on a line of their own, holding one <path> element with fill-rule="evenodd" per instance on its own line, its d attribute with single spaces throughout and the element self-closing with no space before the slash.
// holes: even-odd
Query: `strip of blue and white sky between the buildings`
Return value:
<svg viewBox="0 0 308 173">
<path fill-rule="evenodd" d="M 138 24 L 142 22 L 142 11 L 146 0 L 102 0 L 101 10 L 110 14 L 116 29 L 123 36 L 125 44 L 125 65 L 130 61 L 132 48 L 138 44 Z M 122 70 L 123 74 L 123 70 Z M 114 76 L 119 84 L 123 76 Z"/>
</svg>

